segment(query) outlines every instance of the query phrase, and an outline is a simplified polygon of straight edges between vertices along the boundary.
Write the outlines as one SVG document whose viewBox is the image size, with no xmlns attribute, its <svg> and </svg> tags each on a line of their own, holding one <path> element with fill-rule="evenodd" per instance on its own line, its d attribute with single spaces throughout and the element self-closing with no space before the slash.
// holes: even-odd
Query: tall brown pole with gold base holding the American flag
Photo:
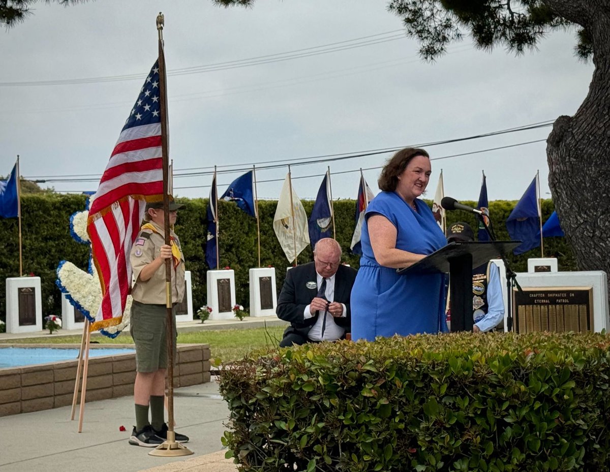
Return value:
<svg viewBox="0 0 610 472">
<path fill-rule="evenodd" d="M 161 156 L 163 166 L 163 232 L 165 233 L 165 244 L 170 246 L 170 196 L 168 195 L 169 184 L 169 157 L 168 157 L 168 119 L 167 119 L 167 84 L 165 75 L 165 55 L 163 53 L 163 14 L 157 16 L 157 32 L 159 34 L 159 104 L 161 112 Z M 173 257 L 165 259 L 165 307 L 167 307 L 167 440 L 157 446 L 148 454 L 150 456 L 188 456 L 193 451 L 176 442 L 174 432 L 174 323 L 171 302 L 171 265 Z"/>
</svg>

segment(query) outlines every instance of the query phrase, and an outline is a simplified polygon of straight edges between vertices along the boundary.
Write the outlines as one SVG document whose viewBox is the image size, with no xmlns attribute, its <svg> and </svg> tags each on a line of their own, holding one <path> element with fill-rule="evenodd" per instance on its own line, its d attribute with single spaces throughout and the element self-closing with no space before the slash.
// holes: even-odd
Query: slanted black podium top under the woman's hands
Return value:
<svg viewBox="0 0 610 472">
<path fill-rule="evenodd" d="M 467 254 L 472 255 L 472 268 L 506 256 L 512 249 L 521 244 L 521 241 L 466 241 L 449 243 L 438 251 L 432 252 L 410 267 L 397 269 L 399 274 L 437 274 L 448 273 L 451 260 L 458 259 Z"/>
</svg>

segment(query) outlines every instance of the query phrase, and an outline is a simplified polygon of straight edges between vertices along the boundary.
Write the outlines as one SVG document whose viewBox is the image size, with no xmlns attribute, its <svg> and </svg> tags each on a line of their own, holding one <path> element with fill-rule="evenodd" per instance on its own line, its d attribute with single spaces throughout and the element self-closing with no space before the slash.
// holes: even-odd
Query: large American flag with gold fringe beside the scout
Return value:
<svg viewBox="0 0 610 472">
<path fill-rule="evenodd" d="M 121 130 L 89 210 L 87 232 L 102 286 L 91 331 L 117 326 L 132 270 L 129 251 L 140 231 L 146 201 L 163 196 L 159 61 L 154 63 Z M 118 332 L 113 331 L 112 335 Z"/>
</svg>

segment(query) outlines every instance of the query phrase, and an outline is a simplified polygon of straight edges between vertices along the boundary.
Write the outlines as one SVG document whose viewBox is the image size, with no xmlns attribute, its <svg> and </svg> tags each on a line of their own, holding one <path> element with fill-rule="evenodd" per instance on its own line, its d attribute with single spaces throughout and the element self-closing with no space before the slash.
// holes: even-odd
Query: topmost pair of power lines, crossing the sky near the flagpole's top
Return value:
<svg viewBox="0 0 610 472">
<path fill-rule="evenodd" d="M 392 30 L 384 33 L 379 33 L 351 40 L 339 41 L 336 43 L 328 43 L 326 45 L 312 46 L 310 48 L 295 49 L 293 51 L 278 52 L 276 54 L 267 54 L 248 59 L 238 59 L 228 62 L 218 62 L 207 65 L 192 66 L 181 69 L 173 69 L 167 71 L 168 76 L 182 76 L 187 74 L 200 74 L 205 72 L 215 72 L 222 70 L 231 70 L 241 67 L 249 67 L 254 65 L 267 64 L 271 62 L 283 62 L 285 60 L 301 59 L 302 57 L 310 57 L 313 55 L 329 54 L 330 52 L 346 51 L 348 49 L 362 48 L 364 46 L 377 45 L 388 41 L 396 41 L 406 38 L 406 35 L 395 34 L 402 30 Z M 371 39 L 373 38 L 373 39 Z M 348 44 L 350 43 L 350 44 Z M 317 51 L 315 51 L 317 49 Z M 23 82 L 0 82 L 0 87 L 39 87 L 46 85 L 76 85 L 76 84 L 98 84 L 101 82 L 119 82 L 123 80 L 142 79 L 143 74 L 124 74 L 120 76 L 104 76 L 104 77 L 87 77 L 81 79 L 57 79 L 57 80 L 32 80 Z"/>
</svg>

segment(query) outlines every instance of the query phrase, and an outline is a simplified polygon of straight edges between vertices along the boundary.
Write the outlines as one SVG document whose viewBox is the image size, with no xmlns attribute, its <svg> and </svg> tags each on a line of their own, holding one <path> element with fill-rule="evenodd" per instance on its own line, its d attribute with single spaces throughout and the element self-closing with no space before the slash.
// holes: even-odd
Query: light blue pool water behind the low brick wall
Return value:
<svg viewBox="0 0 610 472">
<path fill-rule="evenodd" d="M 58 360 L 76 360 L 78 352 L 79 349 L 73 348 L 0 348 L 0 369 L 57 362 Z M 131 352 L 135 352 L 135 349 L 96 348 L 89 349 L 89 357 L 115 356 Z"/>
</svg>

